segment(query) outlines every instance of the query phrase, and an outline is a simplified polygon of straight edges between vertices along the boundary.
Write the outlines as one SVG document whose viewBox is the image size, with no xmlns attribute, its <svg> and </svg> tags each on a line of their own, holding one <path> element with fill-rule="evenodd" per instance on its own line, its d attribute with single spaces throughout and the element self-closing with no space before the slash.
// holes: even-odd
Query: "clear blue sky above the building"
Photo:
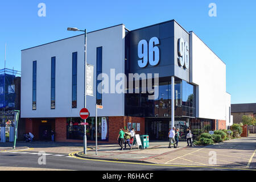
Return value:
<svg viewBox="0 0 256 182">
<path fill-rule="evenodd" d="M 46 17 L 38 4 L 46 3 Z M 209 3 L 217 17 L 208 15 Z M 0 68 L 20 71 L 20 50 L 77 35 L 67 27 L 98 30 L 125 24 L 129 30 L 176 19 L 194 31 L 225 63 L 226 90 L 232 104 L 256 102 L 256 1 L 60 1 L 9 0 L 0 2 Z M 216 71 L 218 74 L 218 71 Z"/>
</svg>

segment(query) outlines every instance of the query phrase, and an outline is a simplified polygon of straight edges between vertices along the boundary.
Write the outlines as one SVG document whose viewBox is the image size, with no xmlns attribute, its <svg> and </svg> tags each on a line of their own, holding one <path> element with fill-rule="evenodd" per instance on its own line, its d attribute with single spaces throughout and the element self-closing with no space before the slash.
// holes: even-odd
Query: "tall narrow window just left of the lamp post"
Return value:
<svg viewBox="0 0 256 182">
<path fill-rule="evenodd" d="M 72 54 L 72 108 L 77 108 L 77 52 Z"/>
</svg>

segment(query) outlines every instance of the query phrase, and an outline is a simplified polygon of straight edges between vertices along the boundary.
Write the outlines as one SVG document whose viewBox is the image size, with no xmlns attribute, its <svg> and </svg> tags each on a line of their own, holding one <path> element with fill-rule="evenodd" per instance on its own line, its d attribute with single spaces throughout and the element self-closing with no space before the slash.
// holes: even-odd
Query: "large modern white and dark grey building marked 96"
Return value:
<svg viewBox="0 0 256 182">
<path fill-rule="evenodd" d="M 98 139 L 106 142 L 116 141 L 119 127 L 166 140 L 172 125 L 182 133 L 188 126 L 218 130 L 232 123 L 226 64 L 175 20 L 89 32 L 87 63 L 94 66 L 94 97 L 86 96 L 89 140 L 95 139 L 96 103 L 104 106 Z M 22 50 L 26 131 L 35 139 L 55 130 L 56 141 L 81 141 L 84 86 L 84 34 Z"/>
</svg>

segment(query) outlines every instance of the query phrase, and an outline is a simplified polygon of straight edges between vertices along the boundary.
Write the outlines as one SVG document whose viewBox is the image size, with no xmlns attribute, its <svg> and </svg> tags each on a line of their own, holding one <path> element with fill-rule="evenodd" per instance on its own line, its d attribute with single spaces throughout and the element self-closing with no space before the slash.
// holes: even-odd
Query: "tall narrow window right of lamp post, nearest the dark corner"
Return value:
<svg viewBox="0 0 256 182">
<path fill-rule="evenodd" d="M 100 75 L 102 73 L 102 47 L 97 47 L 97 76 L 96 78 L 98 78 L 98 75 Z M 102 92 L 101 90 L 98 90 L 98 87 L 99 88 L 102 88 L 102 79 L 101 80 L 98 80 L 97 79 L 97 82 L 96 82 L 96 86 L 97 86 L 97 94 L 96 94 L 96 102 L 98 105 L 102 105 Z M 100 86 L 98 86 L 100 85 Z M 100 91 L 100 92 L 98 92 Z"/>
</svg>

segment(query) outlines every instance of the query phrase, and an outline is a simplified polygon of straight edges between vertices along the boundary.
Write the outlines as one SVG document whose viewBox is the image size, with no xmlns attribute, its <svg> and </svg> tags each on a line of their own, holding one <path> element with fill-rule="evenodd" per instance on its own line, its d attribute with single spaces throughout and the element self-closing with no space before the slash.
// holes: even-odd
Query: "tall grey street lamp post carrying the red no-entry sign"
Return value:
<svg viewBox="0 0 256 182">
<path fill-rule="evenodd" d="M 87 66 L 87 60 L 86 60 L 86 29 L 85 30 L 79 30 L 78 28 L 68 28 L 68 31 L 81 31 L 84 32 L 84 108 L 86 108 L 86 66 Z M 86 119 L 84 119 L 84 122 L 86 123 Z M 87 148 L 87 138 L 86 138 L 86 125 L 84 125 L 84 154 L 86 155 L 86 148 Z"/>
</svg>

